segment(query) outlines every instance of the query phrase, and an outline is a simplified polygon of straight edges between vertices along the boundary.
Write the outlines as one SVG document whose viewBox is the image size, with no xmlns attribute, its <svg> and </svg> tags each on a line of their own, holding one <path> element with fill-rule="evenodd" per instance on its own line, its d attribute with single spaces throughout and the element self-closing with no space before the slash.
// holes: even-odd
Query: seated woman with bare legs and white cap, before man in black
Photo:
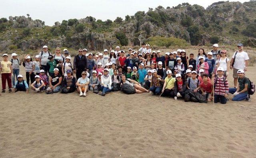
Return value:
<svg viewBox="0 0 256 158">
<path fill-rule="evenodd" d="M 93 72 L 96 74 L 95 70 Z M 96 76 L 96 75 L 94 75 Z M 97 77 L 96 77 L 97 78 Z M 76 82 L 77 86 L 77 92 L 80 93 L 80 97 L 85 96 L 86 97 L 86 92 L 88 92 L 88 84 L 89 84 L 89 78 L 87 77 L 87 72 L 83 71 L 82 72 L 82 77 L 78 78 Z"/>
</svg>

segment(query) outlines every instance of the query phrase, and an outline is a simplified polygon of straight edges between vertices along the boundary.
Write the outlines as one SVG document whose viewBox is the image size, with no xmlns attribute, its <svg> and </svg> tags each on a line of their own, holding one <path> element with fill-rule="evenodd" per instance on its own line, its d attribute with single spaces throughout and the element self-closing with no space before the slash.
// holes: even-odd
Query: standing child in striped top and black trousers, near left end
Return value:
<svg viewBox="0 0 256 158">
<path fill-rule="evenodd" d="M 27 79 L 28 85 L 29 85 L 29 78 L 30 78 L 31 84 L 35 81 L 34 79 L 35 64 L 30 60 L 31 60 L 30 55 L 26 55 L 26 57 L 24 58 L 24 61 L 25 61 L 25 71 L 26 71 L 26 79 Z"/>
</svg>

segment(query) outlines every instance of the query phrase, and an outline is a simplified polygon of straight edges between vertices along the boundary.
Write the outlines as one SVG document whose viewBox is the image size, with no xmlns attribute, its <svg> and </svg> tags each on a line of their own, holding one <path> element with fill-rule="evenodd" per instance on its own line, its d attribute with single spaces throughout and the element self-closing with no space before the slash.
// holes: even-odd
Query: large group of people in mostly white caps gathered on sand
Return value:
<svg viewBox="0 0 256 158">
<path fill-rule="evenodd" d="M 127 94 L 150 93 L 175 100 L 214 103 L 226 103 L 231 93 L 233 101 L 250 101 L 252 87 L 245 76 L 249 57 L 243 45 L 237 45 L 238 51 L 231 60 L 226 50 L 218 49 L 218 44 L 212 48 L 207 54 L 199 49 L 196 55 L 184 49 L 163 55 L 145 43 L 138 51 L 128 49 L 127 53 L 118 46 L 116 50 L 104 49 L 103 53 L 94 54 L 79 49 L 72 63 L 67 49 L 62 53 L 57 47 L 52 54 L 44 45 L 35 57 L 26 55 L 23 63 L 16 53 L 12 53 L 11 59 L 8 54 L 2 55 L 2 93 L 6 91 L 7 81 L 8 92 L 28 93 L 31 87 L 34 92 L 46 94 L 77 90 L 79 96 L 85 97 L 89 90 L 101 96 L 122 90 Z M 20 74 L 21 64 L 26 80 Z M 230 70 L 233 70 L 234 88 L 230 88 L 227 80 Z"/>
</svg>

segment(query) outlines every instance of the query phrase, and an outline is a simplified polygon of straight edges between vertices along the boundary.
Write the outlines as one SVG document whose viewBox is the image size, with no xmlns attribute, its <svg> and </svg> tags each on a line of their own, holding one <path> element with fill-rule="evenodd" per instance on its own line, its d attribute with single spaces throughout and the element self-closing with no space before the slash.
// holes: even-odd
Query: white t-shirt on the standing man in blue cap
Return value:
<svg viewBox="0 0 256 158">
<path fill-rule="evenodd" d="M 235 58 L 235 54 L 232 56 L 232 58 Z M 244 70 L 245 68 L 245 60 L 249 60 L 248 54 L 244 51 L 242 52 L 237 52 L 236 54 L 236 59 L 235 59 L 235 63 L 234 63 L 234 68 L 236 69 L 242 69 Z"/>
</svg>

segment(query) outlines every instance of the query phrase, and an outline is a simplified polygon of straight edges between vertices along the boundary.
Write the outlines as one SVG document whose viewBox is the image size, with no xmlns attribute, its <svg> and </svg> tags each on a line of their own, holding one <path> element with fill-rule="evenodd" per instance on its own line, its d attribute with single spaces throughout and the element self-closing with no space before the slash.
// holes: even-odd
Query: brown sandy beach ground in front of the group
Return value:
<svg viewBox="0 0 256 158">
<path fill-rule="evenodd" d="M 256 108 L 255 95 L 213 105 L 116 93 L 2 94 L 0 158 L 256 157 L 256 110 L 237 106 Z"/>
</svg>

